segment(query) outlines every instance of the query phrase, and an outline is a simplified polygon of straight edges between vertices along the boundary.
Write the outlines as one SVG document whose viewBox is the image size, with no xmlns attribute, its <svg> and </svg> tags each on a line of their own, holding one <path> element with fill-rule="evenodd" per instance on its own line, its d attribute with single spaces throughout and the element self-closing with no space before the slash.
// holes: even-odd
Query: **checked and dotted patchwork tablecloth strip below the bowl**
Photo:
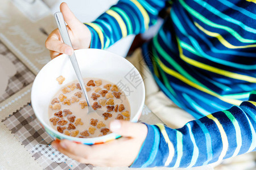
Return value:
<svg viewBox="0 0 256 170">
<path fill-rule="evenodd" d="M 139 121 L 148 124 L 161 122 L 146 105 Z M 27 104 L 2 122 L 44 169 L 97 169 L 92 165 L 76 162 L 55 150 L 50 145 L 53 139 L 40 126 L 31 104 Z"/>
</svg>

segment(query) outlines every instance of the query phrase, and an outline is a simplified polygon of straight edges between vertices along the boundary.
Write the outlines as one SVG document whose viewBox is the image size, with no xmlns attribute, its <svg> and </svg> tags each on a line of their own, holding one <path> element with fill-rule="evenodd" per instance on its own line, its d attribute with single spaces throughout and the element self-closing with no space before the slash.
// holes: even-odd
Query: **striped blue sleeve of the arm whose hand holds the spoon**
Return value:
<svg viewBox="0 0 256 170">
<path fill-rule="evenodd" d="M 120 0 L 94 22 L 85 23 L 92 33 L 90 48 L 106 49 L 127 35 L 143 33 L 156 23 L 167 0 Z M 167 4 L 170 4 L 168 2 Z"/>
</svg>

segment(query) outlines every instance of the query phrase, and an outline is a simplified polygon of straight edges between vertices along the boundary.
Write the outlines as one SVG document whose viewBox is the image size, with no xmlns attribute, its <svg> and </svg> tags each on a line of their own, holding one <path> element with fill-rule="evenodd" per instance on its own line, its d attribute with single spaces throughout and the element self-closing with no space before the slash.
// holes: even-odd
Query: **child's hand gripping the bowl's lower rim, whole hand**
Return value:
<svg viewBox="0 0 256 170">
<path fill-rule="evenodd" d="M 147 126 L 128 121 L 113 121 L 110 130 L 122 138 L 98 145 L 83 145 L 68 140 L 53 141 L 52 146 L 81 163 L 100 167 L 127 167 L 131 165 L 147 136 Z"/>
</svg>

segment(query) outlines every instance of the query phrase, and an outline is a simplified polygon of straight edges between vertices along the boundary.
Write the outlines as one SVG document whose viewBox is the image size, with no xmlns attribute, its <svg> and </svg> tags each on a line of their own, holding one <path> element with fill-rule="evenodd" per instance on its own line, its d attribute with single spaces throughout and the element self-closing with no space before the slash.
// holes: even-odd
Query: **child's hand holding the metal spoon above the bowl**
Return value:
<svg viewBox="0 0 256 170">
<path fill-rule="evenodd" d="M 61 3 L 60 11 L 63 14 L 65 22 L 68 24 L 68 34 L 71 39 L 74 49 L 89 48 L 92 35 L 89 28 L 85 24 L 81 23 L 75 15 L 68 8 L 67 3 Z M 59 29 L 55 29 L 51 32 L 46 40 L 46 48 L 50 50 L 51 58 L 59 56 L 61 53 L 73 54 L 73 49 L 63 43 L 61 39 Z"/>
</svg>

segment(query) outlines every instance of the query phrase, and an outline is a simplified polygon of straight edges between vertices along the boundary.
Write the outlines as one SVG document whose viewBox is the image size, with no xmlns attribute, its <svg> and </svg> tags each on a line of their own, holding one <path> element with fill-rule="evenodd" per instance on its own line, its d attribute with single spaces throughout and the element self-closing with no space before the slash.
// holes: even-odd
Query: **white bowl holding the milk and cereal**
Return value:
<svg viewBox="0 0 256 170">
<path fill-rule="evenodd" d="M 130 121 L 137 122 L 145 99 L 144 83 L 138 70 L 127 59 L 106 50 L 79 49 L 75 50 L 75 54 L 83 78 L 105 79 L 117 84 L 125 92 L 131 107 Z M 60 75 L 65 78 L 61 85 L 56 81 Z M 110 133 L 97 138 L 76 138 L 61 134 L 51 127 L 48 117 L 49 103 L 61 87 L 73 80 L 77 80 L 76 74 L 69 57 L 65 54 L 48 62 L 35 78 L 31 91 L 32 108 L 47 133 L 55 139 L 69 139 L 87 145 L 104 143 L 120 137 L 118 134 Z"/>
</svg>

